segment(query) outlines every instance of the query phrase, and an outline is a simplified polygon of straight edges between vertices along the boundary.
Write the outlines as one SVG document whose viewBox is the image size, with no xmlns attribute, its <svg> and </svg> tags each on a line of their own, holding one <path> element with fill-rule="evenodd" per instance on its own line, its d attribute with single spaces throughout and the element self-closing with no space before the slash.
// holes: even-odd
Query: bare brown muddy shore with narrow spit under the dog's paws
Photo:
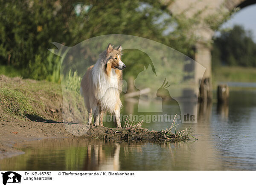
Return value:
<svg viewBox="0 0 256 186">
<path fill-rule="evenodd" d="M 77 124 L 76 124 L 77 125 Z M 62 122 L 32 122 L 32 121 L 12 121 L 1 122 L 0 125 L 0 159 L 23 154 L 15 149 L 17 142 L 27 142 L 31 140 L 51 139 L 51 138 L 86 138 L 105 139 L 106 141 L 122 140 L 131 141 L 151 141 L 151 142 L 175 142 L 186 141 L 188 136 L 168 134 L 168 131 L 148 131 L 145 128 L 107 128 L 81 125 L 86 133 L 80 137 L 68 132 Z M 71 126 L 72 127 L 72 126 Z"/>
</svg>

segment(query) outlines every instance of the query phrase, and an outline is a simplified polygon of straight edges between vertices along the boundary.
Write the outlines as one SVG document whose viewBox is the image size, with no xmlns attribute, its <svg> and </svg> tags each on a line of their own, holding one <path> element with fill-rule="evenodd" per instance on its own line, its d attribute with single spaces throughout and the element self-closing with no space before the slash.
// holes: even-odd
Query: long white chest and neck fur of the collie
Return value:
<svg viewBox="0 0 256 186">
<path fill-rule="evenodd" d="M 104 67 L 98 61 L 92 69 L 93 85 L 95 88 L 96 101 L 102 110 L 113 113 L 119 99 L 119 79 L 114 69 L 109 76 L 105 73 Z"/>
</svg>

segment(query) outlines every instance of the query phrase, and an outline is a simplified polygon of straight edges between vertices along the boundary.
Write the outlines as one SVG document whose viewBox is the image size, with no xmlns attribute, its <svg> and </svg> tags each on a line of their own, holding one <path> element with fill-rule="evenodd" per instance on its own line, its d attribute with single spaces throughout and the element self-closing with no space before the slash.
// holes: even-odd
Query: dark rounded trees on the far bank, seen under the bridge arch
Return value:
<svg viewBox="0 0 256 186">
<path fill-rule="evenodd" d="M 252 32 L 235 25 L 214 39 L 212 65 L 256 67 L 256 43 Z"/>
</svg>

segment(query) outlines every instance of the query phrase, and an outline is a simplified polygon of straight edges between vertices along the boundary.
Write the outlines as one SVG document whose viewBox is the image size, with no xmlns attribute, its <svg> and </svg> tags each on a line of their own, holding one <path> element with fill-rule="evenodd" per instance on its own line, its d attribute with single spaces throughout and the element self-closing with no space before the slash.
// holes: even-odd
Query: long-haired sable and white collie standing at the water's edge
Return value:
<svg viewBox="0 0 256 186">
<path fill-rule="evenodd" d="M 88 124 L 103 126 L 103 114 L 108 112 L 115 116 L 116 127 L 120 128 L 120 90 L 122 90 L 122 70 L 125 64 L 121 61 L 122 47 L 108 47 L 99 55 L 95 65 L 88 68 L 81 81 L 81 94 L 88 110 Z"/>
</svg>

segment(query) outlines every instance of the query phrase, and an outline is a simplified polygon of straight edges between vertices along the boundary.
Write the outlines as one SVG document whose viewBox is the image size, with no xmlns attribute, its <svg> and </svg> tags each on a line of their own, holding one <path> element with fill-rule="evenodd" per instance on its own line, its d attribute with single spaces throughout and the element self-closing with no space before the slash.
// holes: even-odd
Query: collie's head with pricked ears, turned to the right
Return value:
<svg viewBox="0 0 256 186">
<path fill-rule="evenodd" d="M 106 49 L 106 62 L 105 67 L 106 69 L 116 69 L 116 70 L 123 70 L 125 69 L 125 64 L 121 61 L 121 55 L 122 55 L 122 47 L 117 46 L 116 48 L 113 48 L 113 45 L 108 44 L 108 47 Z"/>
</svg>

